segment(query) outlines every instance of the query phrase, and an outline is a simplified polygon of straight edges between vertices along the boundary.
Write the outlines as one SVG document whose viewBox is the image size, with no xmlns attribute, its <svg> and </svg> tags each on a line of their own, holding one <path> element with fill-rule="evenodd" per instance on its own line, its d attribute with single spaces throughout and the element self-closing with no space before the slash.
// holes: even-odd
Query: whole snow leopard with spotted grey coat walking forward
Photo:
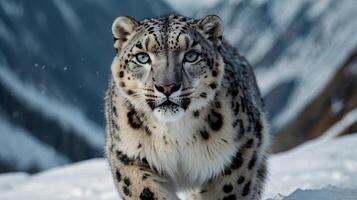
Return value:
<svg viewBox="0 0 357 200">
<path fill-rule="evenodd" d="M 112 25 L 106 156 L 122 199 L 261 199 L 268 125 L 252 67 L 216 15 Z"/>
</svg>

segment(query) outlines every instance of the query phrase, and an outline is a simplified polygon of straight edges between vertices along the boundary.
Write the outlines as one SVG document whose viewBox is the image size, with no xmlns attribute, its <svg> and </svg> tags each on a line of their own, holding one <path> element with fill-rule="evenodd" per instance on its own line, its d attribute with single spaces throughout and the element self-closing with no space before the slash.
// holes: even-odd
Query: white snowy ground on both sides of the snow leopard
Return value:
<svg viewBox="0 0 357 200">
<path fill-rule="evenodd" d="M 270 159 L 264 199 L 357 199 L 357 135 L 314 140 Z M 119 199 L 104 159 L 54 168 L 36 175 L 0 176 L 1 200 Z"/>
</svg>

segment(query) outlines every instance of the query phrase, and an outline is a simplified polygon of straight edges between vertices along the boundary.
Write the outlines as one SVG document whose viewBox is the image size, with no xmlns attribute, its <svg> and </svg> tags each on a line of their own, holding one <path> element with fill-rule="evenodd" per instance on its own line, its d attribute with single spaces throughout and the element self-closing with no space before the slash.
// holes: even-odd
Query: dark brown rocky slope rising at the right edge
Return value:
<svg viewBox="0 0 357 200">
<path fill-rule="evenodd" d="M 346 124 L 334 136 L 357 132 L 357 52 L 348 57 L 321 93 L 277 132 L 272 149 L 288 150 L 319 137 L 343 118 Z"/>
</svg>

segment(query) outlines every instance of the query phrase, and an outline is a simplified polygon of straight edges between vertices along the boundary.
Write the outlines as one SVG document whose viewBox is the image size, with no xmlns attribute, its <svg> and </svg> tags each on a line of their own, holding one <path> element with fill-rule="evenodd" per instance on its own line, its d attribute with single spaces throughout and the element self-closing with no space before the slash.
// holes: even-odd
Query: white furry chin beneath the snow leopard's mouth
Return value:
<svg viewBox="0 0 357 200">
<path fill-rule="evenodd" d="M 184 112 L 181 106 L 171 101 L 165 101 L 154 109 L 153 114 L 159 121 L 175 122 L 184 115 Z"/>
</svg>

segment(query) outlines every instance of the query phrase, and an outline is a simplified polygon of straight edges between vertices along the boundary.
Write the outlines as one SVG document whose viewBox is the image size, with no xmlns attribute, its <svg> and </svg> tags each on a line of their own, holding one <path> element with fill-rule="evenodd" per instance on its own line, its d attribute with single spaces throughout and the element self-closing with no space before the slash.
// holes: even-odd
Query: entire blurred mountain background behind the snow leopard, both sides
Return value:
<svg viewBox="0 0 357 200">
<path fill-rule="evenodd" d="M 0 172 L 102 157 L 111 23 L 172 12 L 223 19 L 255 68 L 273 152 L 357 132 L 354 0 L 1 0 Z"/>
</svg>

